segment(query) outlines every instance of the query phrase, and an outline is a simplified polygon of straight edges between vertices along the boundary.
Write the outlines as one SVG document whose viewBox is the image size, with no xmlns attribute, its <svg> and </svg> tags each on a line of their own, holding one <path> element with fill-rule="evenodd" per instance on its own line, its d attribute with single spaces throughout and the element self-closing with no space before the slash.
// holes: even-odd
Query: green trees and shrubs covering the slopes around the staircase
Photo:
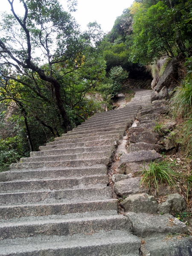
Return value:
<svg viewBox="0 0 192 256">
<path fill-rule="evenodd" d="M 68 2 L 74 11 L 76 0 Z M 174 108 L 179 109 L 181 91 L 191 95 L 190 0 L 137 0 L 104 37 L 97 23 L 81 33 L 58 0 L 22 0 L 23 16 L 9 3 L 12 14 L 2 14 L 0 22 L 1 169 L 104 111 L 102 105 L 110 109 L 111 96 L 124 79 L 134 70 L 139 70 L 136 76 L 145 73 L 143 65 L 157 58 L 188 58 Z M 182 97 L 182 145 L 189 152 L 191 96 L 190 101 L 186 94 Z"/>
</svg>

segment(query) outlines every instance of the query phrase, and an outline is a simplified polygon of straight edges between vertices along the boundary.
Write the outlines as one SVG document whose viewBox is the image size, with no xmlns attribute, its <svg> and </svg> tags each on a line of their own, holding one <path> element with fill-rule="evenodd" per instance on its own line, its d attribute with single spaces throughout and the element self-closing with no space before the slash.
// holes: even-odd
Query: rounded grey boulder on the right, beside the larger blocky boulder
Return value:
<svg viewBox="0 0 192 256">
<path fill-rule="evenodd" d="M 158 205 L 158 211 L 162 213 L 169 213 L 173 209 L 175 212 L 186 209 L 186 202 L 178 193 L 168 195 L 167 200 Z"/>
</svg>

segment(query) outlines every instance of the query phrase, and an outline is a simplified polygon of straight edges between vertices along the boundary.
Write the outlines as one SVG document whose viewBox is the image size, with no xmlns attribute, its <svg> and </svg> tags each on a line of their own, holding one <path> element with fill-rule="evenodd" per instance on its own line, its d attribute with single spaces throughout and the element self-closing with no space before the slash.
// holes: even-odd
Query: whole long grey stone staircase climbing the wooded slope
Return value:
<svg viewBox="0 0 192 256">
<path fill-rule="evenodd" d="M 0 256 L 140 255 L 108 166 L 150 95 L 137 90 L 125 108 L 97 113 L 0 173 Z"/>
</svg>

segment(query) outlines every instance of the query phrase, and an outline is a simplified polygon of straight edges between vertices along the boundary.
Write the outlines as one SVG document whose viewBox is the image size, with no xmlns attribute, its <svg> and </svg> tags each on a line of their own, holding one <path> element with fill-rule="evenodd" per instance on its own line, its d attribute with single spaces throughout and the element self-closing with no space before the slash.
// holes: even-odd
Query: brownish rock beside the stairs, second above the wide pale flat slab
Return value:
<svg viewBox="0 0 192 256">
<path fill-rule="evenodd" d="M 145 142 L 148 144 L 156 144 L 159 138 L 159 134 L 155 132 L 143 131 L 133 132 L 130 137 L 130 142 L 139 143 Z"/>
</svg>

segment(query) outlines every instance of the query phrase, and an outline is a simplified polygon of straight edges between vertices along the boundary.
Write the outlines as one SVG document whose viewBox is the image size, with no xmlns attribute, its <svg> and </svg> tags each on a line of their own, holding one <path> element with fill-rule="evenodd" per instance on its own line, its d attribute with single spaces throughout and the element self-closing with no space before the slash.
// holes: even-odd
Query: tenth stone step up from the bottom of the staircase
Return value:
<svg viewBox="0 0 192 256">
<path fill-rule="evenodd" d="M 64 141 L 65 143 L 65 141 Z M 46 145 L 40 146 L 39 150 L 54 150 L 54 149 L 70 149 L 70 148 L 80 148 L 80 147 L 93 147 L 93 146 L 115 146 L 117 145 L 118 140 L 115 138 L 108 139 L 108 140 L 91 140 L 86 142 L 77 142 L 77 143 L 65 143 L 59 145 Z"/>
</svg>

